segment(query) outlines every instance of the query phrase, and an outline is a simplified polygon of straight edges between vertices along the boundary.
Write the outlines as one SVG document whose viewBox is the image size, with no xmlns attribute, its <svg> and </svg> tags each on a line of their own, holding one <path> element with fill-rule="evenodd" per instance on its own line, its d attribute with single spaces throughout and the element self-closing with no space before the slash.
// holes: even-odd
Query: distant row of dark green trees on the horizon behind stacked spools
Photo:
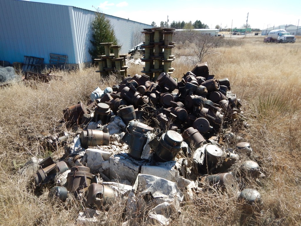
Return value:
<svg viewBox="0 0 301 226">
<path fill-rule="evenodd" d="M 151 23 L 153 27 L 157 27 L 157 24 L 153 21 Z M 159 27 L 169 27 L 175 29 L 206 29 L 209 28 L 207 24 L 202 23 L 200 20 L 196 20 L 194 23 L 191 21 L 185 22 L 184 20 L 172 21 L 171 24 L 168 24 L 167 21 L 161 21 Z"/>
</svg>

